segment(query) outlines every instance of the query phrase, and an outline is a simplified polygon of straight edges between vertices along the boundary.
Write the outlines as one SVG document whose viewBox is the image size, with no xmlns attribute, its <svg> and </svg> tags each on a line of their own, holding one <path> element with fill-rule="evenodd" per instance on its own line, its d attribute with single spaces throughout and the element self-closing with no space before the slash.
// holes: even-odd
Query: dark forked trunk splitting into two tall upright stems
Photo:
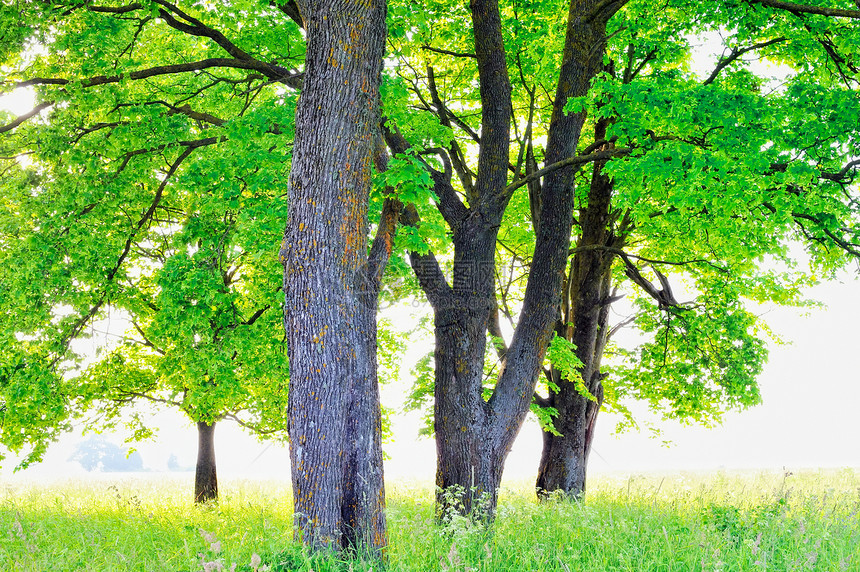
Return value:
<svg viewBox="0 0 860 572">
<path fill-rule="evenodd" d="M 576 152 L 585 115 L 565 113 L 563 108 L 569 98 L 587 94 L 602 65 L 605 20 L 583 21 L 597 4 L 598 0 L 571 2 L 545 153 L 548 165 Z M 468 208 L 452 206 L 451 193 L 446 195 L 440 188 L 440 209 L 454 235 L 453 285 L 447 286 L 432 255 L 414 255 L 413 268 L 435 311 L 439 509 L 442 516 L 461 507 L 466 513 L 480 510 L 478 516 L 492 518 L 504 461 L 528 412 L 559 319 L 573 223 L 574 171 L 551 172 L 540 189 L 542 212 L 520 323 L 493 394 L 485 401 L 483 364 L 494 307 L 495 241 L 510 198 L 504 189 L 512 111 L 498 2 L 473 0 L 470 7 L 483 105 L 481 149 Z M 606 18 L 612 13 L 607 10 Z M 465 497 L 453 498 L 458 493 Z"/>
</svg>

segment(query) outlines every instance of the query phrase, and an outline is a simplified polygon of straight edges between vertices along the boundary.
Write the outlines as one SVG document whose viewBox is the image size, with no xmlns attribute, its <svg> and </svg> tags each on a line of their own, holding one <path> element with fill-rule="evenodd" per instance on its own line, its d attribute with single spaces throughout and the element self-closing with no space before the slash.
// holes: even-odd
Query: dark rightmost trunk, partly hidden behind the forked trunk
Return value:
<svg viewBox="0 0 860 572">
<path fill-rule="evenodd" d="M 595 140 L 605 136 L 605 127 L 605 122 L 598 123 Z M 554 425 L 561 434 L 544 432 L 535 485 L 541 498 L 553 492 L 576 498 L 585 492 L 588 455 L 603 403 L 600 362 L 612 303 L 613 250 L 617 251 L 624 242 L 623 236 L 616 236 L 612 230 L 612 191 L 612 182 L 603 173 L 602 165 L 596 164 L 588 204 L 580 212 L 581 235 L 567 279 L 563 319 L 556 325 L 556 331 L 576 346 L 576 357 L 582 362 L 580 375 L 590 395 L 583 395 L 574 382 L 552 371 L 558 391 L 550 391 L 546 405 L 558 411 Z"/>
</svg>

